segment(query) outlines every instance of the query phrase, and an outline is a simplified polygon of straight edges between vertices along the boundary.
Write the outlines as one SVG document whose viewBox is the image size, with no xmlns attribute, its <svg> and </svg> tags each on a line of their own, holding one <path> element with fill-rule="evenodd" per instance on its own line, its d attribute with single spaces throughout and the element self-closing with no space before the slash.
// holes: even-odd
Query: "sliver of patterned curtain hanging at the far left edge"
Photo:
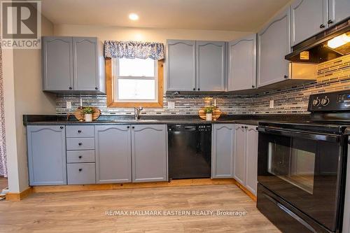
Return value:
<svg viewBox="0 0 350 233">
<path fill-rule="evenodd" d="M 0 176 L 7 177 L 5 113 L 3 112 L 3 76 L 2 76 L 1 43 L 0 43 Z"/>
</svg>

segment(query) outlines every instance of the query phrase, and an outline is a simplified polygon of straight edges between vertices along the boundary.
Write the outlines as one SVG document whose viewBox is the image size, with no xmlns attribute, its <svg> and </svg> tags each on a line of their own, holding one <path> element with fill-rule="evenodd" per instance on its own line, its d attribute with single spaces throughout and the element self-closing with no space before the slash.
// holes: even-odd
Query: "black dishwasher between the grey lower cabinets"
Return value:
<svg viewBox="0 0 350 233">
<path fill-rule="evenodd" d="M 169 179 L 211 177 L 211 125 L 168 125 Z"/>
</svg>

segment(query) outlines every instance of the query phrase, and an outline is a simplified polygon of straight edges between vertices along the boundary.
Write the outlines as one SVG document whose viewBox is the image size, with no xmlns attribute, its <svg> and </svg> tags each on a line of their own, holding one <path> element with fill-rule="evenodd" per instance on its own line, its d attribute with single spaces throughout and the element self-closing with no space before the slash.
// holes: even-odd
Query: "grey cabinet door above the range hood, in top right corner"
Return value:
<svg viewBox="0 0 350 233">
<path fill-rule="evenodd" d="M 329 20 L 328 26 L 332 26 L 347 17 L 350 17 L 350 1 L 349 0 L 328 0 L 329 4 Z"/>
</svg>

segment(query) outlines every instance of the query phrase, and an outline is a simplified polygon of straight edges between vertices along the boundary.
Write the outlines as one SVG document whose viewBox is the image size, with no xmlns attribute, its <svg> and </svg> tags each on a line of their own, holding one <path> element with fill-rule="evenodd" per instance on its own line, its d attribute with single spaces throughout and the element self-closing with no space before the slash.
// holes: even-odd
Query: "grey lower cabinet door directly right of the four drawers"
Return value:
<svg viewBox="0 0 350 233">
<path fill-rule="evenodd" d="M 94 130 L 97 183 L 131 182 L 130 126 L 97 125 Z"/>
</svg>

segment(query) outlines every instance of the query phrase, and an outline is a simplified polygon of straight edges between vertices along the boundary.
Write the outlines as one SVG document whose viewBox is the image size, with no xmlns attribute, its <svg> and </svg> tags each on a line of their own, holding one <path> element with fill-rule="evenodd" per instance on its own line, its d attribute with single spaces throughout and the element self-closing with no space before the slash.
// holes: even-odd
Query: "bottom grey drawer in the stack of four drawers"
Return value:
<svg viewBox="0 0 350 233">
<path fill-rule="evenodd" d="M 67 164 L 66 170 L 69 185 L 96 183 L 94 163 Z"/>
</svg>

